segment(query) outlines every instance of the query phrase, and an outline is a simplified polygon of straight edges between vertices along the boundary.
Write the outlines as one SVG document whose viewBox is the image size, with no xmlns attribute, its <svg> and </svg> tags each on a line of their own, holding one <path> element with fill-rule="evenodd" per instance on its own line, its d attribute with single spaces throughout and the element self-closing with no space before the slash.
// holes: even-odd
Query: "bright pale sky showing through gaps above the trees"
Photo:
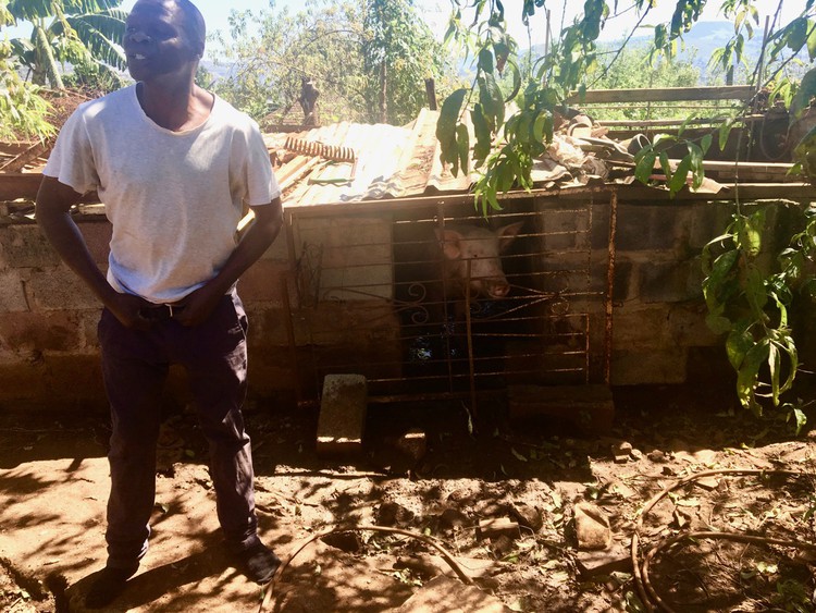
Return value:
<svg viewBox="0 0 816 613">
<path fill-rule="evenodd" d="M 602 33 L 602 39 L 620 39 L 626 33 L 632 29 L 638 21 L 633 11 L 622 11 L 622 9 L 631 4 L 631 0 L 617 1 L 619 4 L 619 11 L 623 14 L 607 23 Z M 780 0 L 756 0 L 755 4 L 761 13 L 761 25 L 756 28 L 756 36 L 762 35 L 765 15 L 772 15 L 779 1 Z M 135 2 L 136 0 L 124 0 L 122 8 L 129 10 Z M 228 33 L 230 25 L 227 20 L 232 10 L 243 11 L 247 9 L 258 10 L 269 8 L 269 1 L 264 0 L 194 0 L 194 2 L 203 14 L 208 30 L 214 32 L 220 29 L 224 32 L 224 34 Z M 800 14 L 805 7 L 805 2 L 806 0 L 782 0 L 782 23 L 788 23 Z M 462 1 L 462 3 L 466 2 Z M 275 0 L 274 4 L 276 9 L 288 8 L 290 12 L 297 12 L 300 10 L 304 2 L 302 0 Z M 415 4 L 419 8 L 420 14 L 425 19 L 431 29 L 441 39 L 447 28 L 447 19 L 450 14 L 450 0 L 415 0 Z M 570 23 L 577 13 L 583 8 L 583 2 L 580 0 L 549 0 L 547 4 L 551 8 L 551 27 L 554 32 L 560 29 L 562 20 L 561 9 L 567 7 L 567 15 L 564 19 L 566 20 L 565 23 Z M 615 0 L 608 0 L 608 4 L 614 5 Z M 702 19 L 704 21 L 722 19 L 719 14 L 720 4 L 721 0 L 708 0 Z M 510 34 L 516 38 L 520 47 L 526 48 L 528 35 L 526 28 L 521 24 L 522 0 L 504 0 L 504 5 Z M 672 0 L 657 0 L 657 5 L 650 11 L 648 20 L 647 22 L 644 22 L 644 24 L 655 25 L 656 23 L 670 21 L 673 5 L 675 2 Z M 543 44 L 544 33 L 546 32 L 546 16 L 543 9 L 536 11 L 531 20 L 531 24 L 533 26 L 532 44 Z M 648 32 L 650 30 L 644 29 L 643 34 L 647 34 Z M 12 33 L 12 36 L 18 34 Z M 217 51 L 218 50 L 213 46 L 210 46 L 207 52 L 208 59 L 214 59 L 213 56 Z"/>
</svg>

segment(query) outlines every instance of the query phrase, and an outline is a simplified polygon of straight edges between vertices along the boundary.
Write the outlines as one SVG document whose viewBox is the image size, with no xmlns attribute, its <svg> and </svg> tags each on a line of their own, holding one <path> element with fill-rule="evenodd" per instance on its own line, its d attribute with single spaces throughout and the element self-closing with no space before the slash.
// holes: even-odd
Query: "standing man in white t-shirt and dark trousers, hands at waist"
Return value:
<svg viewBox="0 0 816 613">
<path fill-rule="evenodd" d="M 171 363 L 188 372 L 219 522 L 258 583 L 280 561 L 257 536 L 239 275 L 282 226 L 280 189 L 258 126 L 195 85 L 205 23 L 189 0 L 138 0 L 124 50 L 136 84 L 81 106 L 45 169 L 37 220 L 104 306 L 102 372 L 111 405 L 108 562 L 86 597 L 101 608 L 147 551 L 156 494 L 161 389 Z M 107 275 L 70 217 L 97 189 L 113 226 Z M 244 206 L 255 222 L 238 242 Z"/>
</svg>

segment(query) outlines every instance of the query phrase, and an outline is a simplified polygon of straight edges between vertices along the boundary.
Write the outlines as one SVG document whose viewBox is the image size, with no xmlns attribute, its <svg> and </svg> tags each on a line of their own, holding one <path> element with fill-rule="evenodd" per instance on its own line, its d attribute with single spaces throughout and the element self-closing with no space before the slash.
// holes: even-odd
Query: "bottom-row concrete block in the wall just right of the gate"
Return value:
<svg viewBox="0 0 816 613">
<path fill-rule="evenodd" d="M 684 383 L 687 364 L 688 350 L 683 347 L 644 352 L 613 351 L 611 384 Z"/>
</svg>

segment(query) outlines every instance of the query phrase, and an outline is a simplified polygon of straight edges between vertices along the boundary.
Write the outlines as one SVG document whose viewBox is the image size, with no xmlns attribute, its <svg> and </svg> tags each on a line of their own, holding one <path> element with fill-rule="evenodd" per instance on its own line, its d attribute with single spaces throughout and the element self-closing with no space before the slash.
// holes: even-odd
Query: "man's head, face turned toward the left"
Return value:
<svg viewBox="0 0 816 613">
<path fill-rule="evenodd" d="M 164 75 L 186 78 L 195 71 L 197 50 L 184 29 L 184 14 L 166 0 L 139 0 L 126 21 L 127 70 L 136 81 Z"/>
</svg>

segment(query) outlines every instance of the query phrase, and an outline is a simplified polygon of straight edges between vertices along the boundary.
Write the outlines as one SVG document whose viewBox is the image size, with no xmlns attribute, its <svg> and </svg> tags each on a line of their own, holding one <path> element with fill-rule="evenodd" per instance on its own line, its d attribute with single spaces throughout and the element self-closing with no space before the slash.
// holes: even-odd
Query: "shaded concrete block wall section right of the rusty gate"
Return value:
<svg viewBox="0 0 816 613">
<path fill-rule="evenodd" d="M 750 214 L 765 208 L 767 265 L 801 219 L 803 203 L 743 203 Z M 608 223 L 608 206 L 606 208 Z M 701 252 L 721 235 L 733 203 L 618 203 L 614 285 L 611 383 L 684 383 L 690 378 L 732 377 L 724 339 L 705 324 Z M 606 235 L 593 237 L 603 248 Z M 701 359 L 708 361 L 705 366 Z"/>
</svg>

